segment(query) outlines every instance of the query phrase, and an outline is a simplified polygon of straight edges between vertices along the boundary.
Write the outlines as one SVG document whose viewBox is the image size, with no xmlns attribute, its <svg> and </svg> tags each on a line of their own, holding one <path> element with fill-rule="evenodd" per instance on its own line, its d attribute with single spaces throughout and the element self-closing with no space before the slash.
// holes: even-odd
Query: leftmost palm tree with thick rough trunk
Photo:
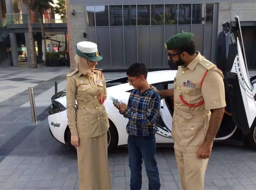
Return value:
<svg viewBox="0 0 256 190">
<path fill-rule="evenodd" d="M 31 67 L 36 68 L 36 54 L 35 54 L 35 39 L 34 33 L 32 28 L 32 19 L 31 19 L 31 12 L 33 10 L 35 0 L 22 0 L 23 4 L 26 5 L 27 9 L 27 17 L 28 17 L 28 36 L 29 36 L 29 44 L 30 44 L 30 55 L 31 55 Z"/>
</svg>

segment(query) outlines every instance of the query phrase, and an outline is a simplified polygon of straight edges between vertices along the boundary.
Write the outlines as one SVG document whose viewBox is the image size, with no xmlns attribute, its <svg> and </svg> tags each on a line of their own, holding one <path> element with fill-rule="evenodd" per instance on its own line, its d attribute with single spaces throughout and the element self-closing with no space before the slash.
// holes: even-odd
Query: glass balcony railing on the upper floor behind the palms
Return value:
<svg viewBox="0 0 256 190">
<path fill-rule="evenodd" d="M 48 15 L 48 14 L 47 14 Z M 31 14 L 32 23 L 40 23 L 40 16 L 38 13 Z M 28 17 L 27 14 L 6 14 L 6 24 L 15 25 L 15 24 L 27 24 Z M 43 19 L 43 23 L 67 23 L 67 19 Z"/>
</svg>

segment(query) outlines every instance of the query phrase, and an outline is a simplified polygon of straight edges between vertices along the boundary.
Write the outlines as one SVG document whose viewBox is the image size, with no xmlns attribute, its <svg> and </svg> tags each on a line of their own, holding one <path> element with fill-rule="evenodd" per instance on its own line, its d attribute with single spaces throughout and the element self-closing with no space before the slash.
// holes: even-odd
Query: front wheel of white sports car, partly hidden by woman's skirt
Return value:
<svg viewBox="0 0 256 190">
<path fill-rule="evenodd" d="M 76 153 L 76 147 L 71 144 L 71 132 L 68 129 L 67 134 L 68 145 L 71 147 L 72 151 Z M 110 122 L 110 127 L 107 130 L 107 151 L 111 152 L 117 146 L 117 131 L 115 125 Z"/>
</svg>

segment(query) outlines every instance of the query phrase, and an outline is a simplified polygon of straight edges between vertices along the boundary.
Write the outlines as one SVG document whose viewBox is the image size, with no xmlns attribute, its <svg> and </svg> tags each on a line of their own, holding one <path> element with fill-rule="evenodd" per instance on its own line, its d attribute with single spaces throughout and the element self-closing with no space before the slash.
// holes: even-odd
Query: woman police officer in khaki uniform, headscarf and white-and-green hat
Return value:
<svg viewBox="0 0 256 190">
<path fill-rule="evenodd" d="M 77 70 L 67 75 L 66 98 L 71 144 L 77 147 L 80 189 L 111 189 L 107 161 L 108 117 L 104 107 L 106 83 L 100 69 L 97 44 L 79 42 Z M 75 111 L 75 100 L 77 111 Z"/>
</svg>

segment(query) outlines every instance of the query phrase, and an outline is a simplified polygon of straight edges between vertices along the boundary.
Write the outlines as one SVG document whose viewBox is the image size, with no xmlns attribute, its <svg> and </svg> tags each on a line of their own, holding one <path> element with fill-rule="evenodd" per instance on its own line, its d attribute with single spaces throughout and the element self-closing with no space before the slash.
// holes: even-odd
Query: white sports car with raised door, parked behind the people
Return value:
<svg viewBox="0 0 256 190">
<path fill-rule="evenodd" d="M 235 18 L 236 27 L 232 29 L 229 23 L 225 22 L 223 23 L 223 32 L 218 36 L 220 42 L 225 42 L 226 39 L 226 43 L 218 43 L 218 47 L 222 47 L 222 49 L 217 51 L 219 54 L 216 57 L 219 59 L 217 59 L 217 66 L 225 74 L 227 107 L 215 141 L 226 141 L 237 145 L 242 145 L 245 141 L 256 148 L 256 104 L 254 96 L 256 89 L 253 87 L 256 86 L 253 81 L 256 76 L 251 79 L 248 76 L 239 18 Z M 147 80 L 158 90 L 170 89 L 173 87 L 176 72 L 176 70 L 149 72 Z M 123 77 L 107 81 L 107 96 L 113 96 L 127 104 L 130 92 L 133 90 L 127 80 L 127 77 Z M 126 124 L 128 119 L 119 114 L 111 99 L 107 98 L 104 105 L 110 121 L 107 136 L 108 149 L 112 150 L 116 146 L 127 144 Z M 162 97 L 161 116 L 157 122 L 157 146 L 173 143 L 171 136 L 173 112 L 173 97 Z M 49 114 L 49 129 L 52 136 L 57 141 L 70 145 L 71 133 L 67 125 L 65 90 L 53 95 Z"/>
</svg>

